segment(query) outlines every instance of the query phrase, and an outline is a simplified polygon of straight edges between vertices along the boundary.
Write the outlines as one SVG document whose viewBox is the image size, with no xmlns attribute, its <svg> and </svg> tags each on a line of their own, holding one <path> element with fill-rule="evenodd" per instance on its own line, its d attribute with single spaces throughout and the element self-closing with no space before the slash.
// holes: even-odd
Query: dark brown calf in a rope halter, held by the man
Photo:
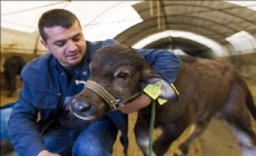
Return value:
<svg viewBox="0 0 256 156">
<path fill-rule="evenodd" d="M 153 152 L 160 156 L 184 130 L 194 131 L 178 146 L 176 155 L 186 155 L 194 138 L 201 135 L 213 117 L 227 122 L 235 132 L 244 156 L 256 155 L 256 136 L 250 113 L 256 120 L 252 96 L 242 78 L 232 66 L 202 58 L 181 58 L 182 64 L 175 82 L 180 95 L 178 102 L 158 105 L 155 128 L 162 130 L 153 143 Z M 161 82 L 161 98 L 172 99 L 174 91 L 167 82 L 153 74 L 145 59 L 135 50 L 111 45 L 95 52 L 90 81 L 102 85 L 115 98 L 128 99 L 142 92 L 148 83 Z M 70 104 L 70 111 L 83 120 L 93 120 L 111 107 L 95 91 L 85 88 Z M 135 127 L 136 143 L 148 155 L 151 107 L 138 111 Z"/>
</svg>

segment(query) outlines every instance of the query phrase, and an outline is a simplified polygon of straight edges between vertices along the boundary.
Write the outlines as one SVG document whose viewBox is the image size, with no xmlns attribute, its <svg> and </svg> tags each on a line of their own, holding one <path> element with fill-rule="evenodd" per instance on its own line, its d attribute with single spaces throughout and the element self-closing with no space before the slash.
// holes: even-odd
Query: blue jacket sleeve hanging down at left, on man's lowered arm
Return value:
<svg viewBox="0 0 256 156">
<path fill-rule="evenodd" d="M 45 150 L 43 137 L 37 130 L 37 107 L 31 105 L 33 90 L 24 82 L 20 98 L 12 108 L 9 121 L 9 135 L 19 155 L 35 156 Z"/>
</svg>

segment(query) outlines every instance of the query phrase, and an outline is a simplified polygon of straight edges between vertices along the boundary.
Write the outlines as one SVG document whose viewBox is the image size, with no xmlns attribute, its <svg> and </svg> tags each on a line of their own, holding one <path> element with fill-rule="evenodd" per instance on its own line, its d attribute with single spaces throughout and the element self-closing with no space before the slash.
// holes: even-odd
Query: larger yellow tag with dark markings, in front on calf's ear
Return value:
<svg viewBox="0 0 256 156">
<path fill-rule="evenodd" d="M 145 87 L 144 91 L 145 91 L 145 93 L 146 93 L 149 97 L 151 97 L 151 98 L 153 98 L 153 99 L 156 99 L 156 98 L 158 98 L 158 97 L 160 96 L 160 94 L 161 94 L 161 85 L 162 85 L 161 82 L 156 82 L 156 83 L 153 83 L 153 84 L 148 84 L 148 85 Z"/>
</svg>

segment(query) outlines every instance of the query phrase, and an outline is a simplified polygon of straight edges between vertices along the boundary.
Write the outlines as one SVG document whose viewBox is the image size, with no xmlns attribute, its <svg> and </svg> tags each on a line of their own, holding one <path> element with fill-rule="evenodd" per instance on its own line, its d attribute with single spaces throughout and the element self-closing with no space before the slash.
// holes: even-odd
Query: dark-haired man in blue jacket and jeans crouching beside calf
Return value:
<svg viewBox="0 0 256 156">
<path fill-rule="evenodd" d="M 143 94 L 92 123 L 70 116 L 67 104 L 83 89 L 82 85 L 75 84 L 75 80 L 87 81 L 93 53 L 117 42 L 85 41 L 77 17 L 62 9 L 45 12 L 38 28 L 41 43 L 49 53 L 30 61 L 21 72 L 24 84 L 9 124 L 11 142 L 17 154 L 111 155 L 118 129 L 123 133 L 127 130 L 124 113 L 149 105 L 151 98 Z M 168 82 L 175 81 L 180 63 L 178 57 L 163 50 L 139 51 L 156 73 Z"/>
</svg>

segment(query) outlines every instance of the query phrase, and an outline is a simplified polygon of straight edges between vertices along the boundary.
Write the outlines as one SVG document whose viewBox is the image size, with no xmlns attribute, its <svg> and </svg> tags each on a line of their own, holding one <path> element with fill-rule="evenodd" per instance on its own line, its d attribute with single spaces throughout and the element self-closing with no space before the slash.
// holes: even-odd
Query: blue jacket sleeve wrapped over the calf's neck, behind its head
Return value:
<svg viewBox="0 0 256 156">
<path fill-rule="evenodd" d="M 175 82 L 180 67 L 180 58 L 171 51 L 140 49 L 139 51 L 152 67 L 167 82 Z"/>
</svg>

